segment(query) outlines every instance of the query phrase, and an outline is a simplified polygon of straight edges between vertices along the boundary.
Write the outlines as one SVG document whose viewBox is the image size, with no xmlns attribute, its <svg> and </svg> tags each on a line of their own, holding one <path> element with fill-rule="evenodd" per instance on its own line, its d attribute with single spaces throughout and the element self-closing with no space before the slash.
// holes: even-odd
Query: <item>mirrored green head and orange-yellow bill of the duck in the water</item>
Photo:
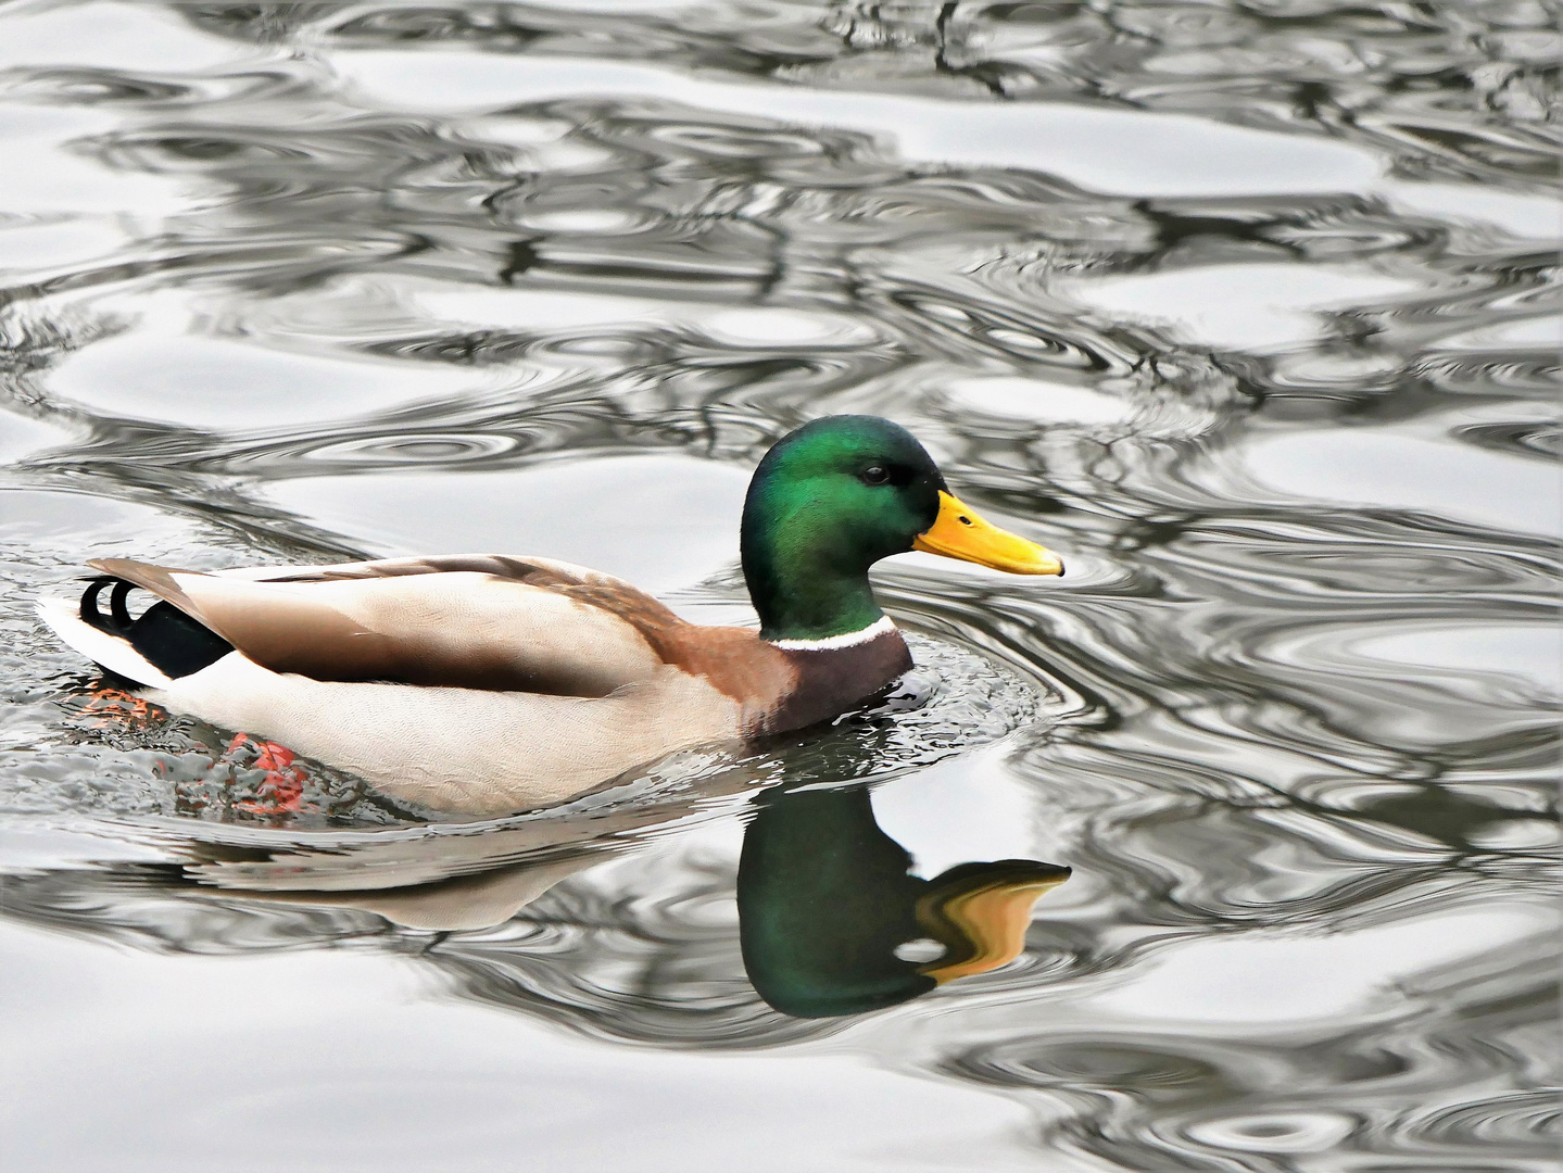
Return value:
<svg viewBox="0 0 1563 1173">
<path fill-rule="evenodd" d="M 1013 961 L 1032 904 L 1069 878 L 1030 859 L 913 876 L 863 786 L 772 790 L 758 808 L 738 864 L 744 967 L 796 1018 L 877 1011 Z M 942 953 L 913 956 L 924 939 Z"/>
</svg>

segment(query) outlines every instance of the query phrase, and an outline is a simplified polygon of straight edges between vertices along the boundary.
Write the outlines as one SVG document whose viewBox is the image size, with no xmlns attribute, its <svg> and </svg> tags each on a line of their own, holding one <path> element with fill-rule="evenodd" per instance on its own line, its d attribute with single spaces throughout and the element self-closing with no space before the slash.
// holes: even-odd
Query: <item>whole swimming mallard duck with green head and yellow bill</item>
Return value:
<svg viewBox="0 0 1563 1173">
<path fill-rule="evenodd" d="M 741 558 L 758 631 L 688 623 L 617 578 L 503 554 L 219 572 L 111 558 L 89 564 L 80 604 L 39 611 L 172 712 L 402 801 L 497 814 L 863 704 L 911 667 L 867 576 L 908 550 L 1063 573 L 961 504 L 908 431 L 833 415 L 783 436 L 750 481 Z M 139 617 L 134 587 L 158 598 Z"/>
</svg>

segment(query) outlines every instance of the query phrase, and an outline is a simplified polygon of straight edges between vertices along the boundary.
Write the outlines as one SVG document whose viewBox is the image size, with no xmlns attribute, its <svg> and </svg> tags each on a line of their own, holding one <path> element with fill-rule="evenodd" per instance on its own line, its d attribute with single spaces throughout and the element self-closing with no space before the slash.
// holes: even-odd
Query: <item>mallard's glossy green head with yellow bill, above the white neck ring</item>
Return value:
<svg viewBox="0 0 1563 1173">
<path fill-rule="evenodd" d="M 1055 554 L 961 504 L 897 423 L 827 415 L 788 433 L 755 469 L 742 559 L 766 639 L 825 639 L 875 623 L 874 562 L 925 550 L 1021 575 L 1061 575 Z"/>
</svg>

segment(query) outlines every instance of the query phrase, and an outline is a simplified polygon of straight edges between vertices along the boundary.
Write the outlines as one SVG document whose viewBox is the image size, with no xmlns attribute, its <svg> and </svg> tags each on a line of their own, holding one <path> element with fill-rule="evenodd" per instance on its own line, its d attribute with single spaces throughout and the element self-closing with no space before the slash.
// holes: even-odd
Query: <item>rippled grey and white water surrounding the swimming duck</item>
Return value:
<svg viewBox="0 0 1563 1173">
<path fill-rule="evenodd" d="M 1550 1168 L 1554 19 L 0 8 L 6 1167 Z M 283 793 L 33 619 L 497 548 L 741 622 L 838 411 L 1069 578 L 885 564 L 908 698 L 563 811 Z M 756 992 L 1002 859 L 1011 964 Z"/>
</svg>

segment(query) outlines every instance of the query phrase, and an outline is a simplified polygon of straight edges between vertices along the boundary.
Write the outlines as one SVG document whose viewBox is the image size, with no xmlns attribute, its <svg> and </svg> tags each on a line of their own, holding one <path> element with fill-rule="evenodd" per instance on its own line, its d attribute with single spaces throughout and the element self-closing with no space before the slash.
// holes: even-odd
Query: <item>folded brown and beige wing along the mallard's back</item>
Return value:
<svg viewBox="0 0 1563 1173">
<path fill-rule="evenodd" d="M 605 697 L 650 678 L 664 664 L 655 633 L 681 623 L 628 583 L 545 559 L 485 554 L 216 573 L 128 559 L 91 565 L 105 579 L 83 598 L 81 622 L 128 642 L 169 678 L 184 664 L 213 662 L 225 642 L 272 672 L 320 681 Z M 108 615 L 97 603 L 105 583 L 113 583 Z M 153 608 L 131 620 L 130 586 L 178 615 L 153 615 Z M 192 658 L 200 640 L 205 653 Z M 172 647 L 153 647 L 159 642 Z"/>
</svg>

